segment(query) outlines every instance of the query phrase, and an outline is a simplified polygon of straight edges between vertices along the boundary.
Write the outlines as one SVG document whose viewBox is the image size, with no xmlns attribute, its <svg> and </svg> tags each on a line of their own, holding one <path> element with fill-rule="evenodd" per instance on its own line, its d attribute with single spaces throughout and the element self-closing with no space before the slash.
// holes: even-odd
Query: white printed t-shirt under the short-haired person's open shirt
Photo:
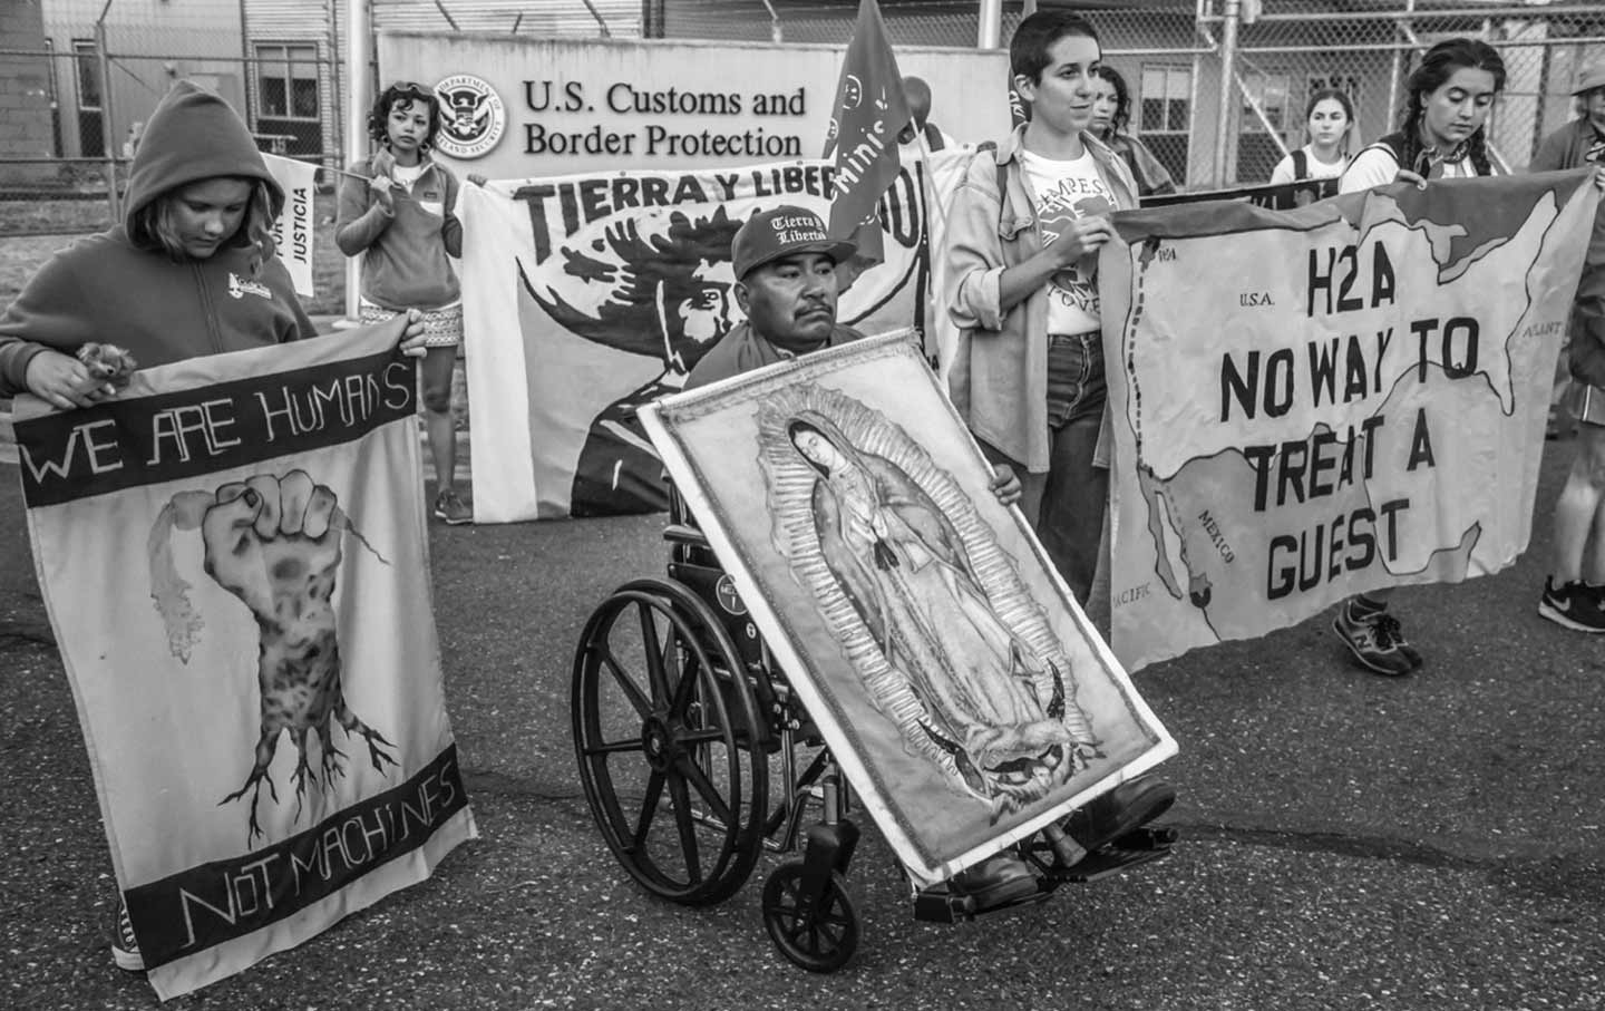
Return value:
<svg viewBox="0 0 1605 1011">
<path fill-rule="evenodd" d="M 1098 173 L 1091 152 L 1059 162 L 1030 151 L 1019 152 L 1026 186 L 1037 207 L 1043 247 L 1075 218 L 1114 212 L 1114 193 Z M 1098 257 L 1088 255 L 1048 279 L 1048 332 L 1085 334 L 1098 329 Z"/>
</svg>

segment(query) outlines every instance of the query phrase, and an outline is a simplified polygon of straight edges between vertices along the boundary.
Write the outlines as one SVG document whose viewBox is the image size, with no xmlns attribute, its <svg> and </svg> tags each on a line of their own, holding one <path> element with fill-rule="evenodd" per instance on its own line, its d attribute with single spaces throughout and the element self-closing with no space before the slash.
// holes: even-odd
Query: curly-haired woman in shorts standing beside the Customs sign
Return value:
<svg viewBox="0 0 1605 1011">
<path fill-rule="evenodd" d="M 435 517 L 467 523 L 473 510 L 456 489 L 457 441 L 451 419 L 451 377 L 462 343 L 462 289 L 446 258 L 462 255 L 457 177 L 430 157 L 440 135 L 435 91 L 393 83 L 368 112 L 371 157 L 355 162 L 340 185 L 334 241 L 363 257 L 363 323 L 380 323 L 417 308 L 424 313 L 424 424 L 435 462 Z"/>
</svg>

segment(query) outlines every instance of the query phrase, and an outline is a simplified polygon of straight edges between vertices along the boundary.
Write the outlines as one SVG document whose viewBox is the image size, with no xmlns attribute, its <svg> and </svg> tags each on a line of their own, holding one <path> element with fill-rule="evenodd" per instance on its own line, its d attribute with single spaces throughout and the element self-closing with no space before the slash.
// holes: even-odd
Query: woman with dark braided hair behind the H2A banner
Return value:
<svg viewBox="0 0 1605 1011">
<path fill-rule="evenodd" d="M 1339 180 L 1339 193 L 1493 175 L 1485 127 L 1504 82 L 1504 61 L 1486 42 L 1444 39 L 1427 50 L 1404 82 L 1400 128 L 1355 156 Z M 1419 669 L 1422 658 L 1388 613 L 1392 595 L 1393 587 L 1385 587 L 1350 597 L 1339 605 L 1332 631 L 1356 663 L 1398 677 Z"/>
</svg>

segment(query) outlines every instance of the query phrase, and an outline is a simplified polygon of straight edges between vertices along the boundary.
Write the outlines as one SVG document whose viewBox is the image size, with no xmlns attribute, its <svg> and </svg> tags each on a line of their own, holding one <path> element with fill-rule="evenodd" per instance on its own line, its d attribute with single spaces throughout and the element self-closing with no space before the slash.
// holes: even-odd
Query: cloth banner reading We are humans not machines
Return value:
<svg viewBox="0 0 1605 1011">
<path fill-rule="evenodd" d="M 170 998 L 473 838 L 401 323 L 16 401 L 34 565 L 151 985 Z"/>
</svg>

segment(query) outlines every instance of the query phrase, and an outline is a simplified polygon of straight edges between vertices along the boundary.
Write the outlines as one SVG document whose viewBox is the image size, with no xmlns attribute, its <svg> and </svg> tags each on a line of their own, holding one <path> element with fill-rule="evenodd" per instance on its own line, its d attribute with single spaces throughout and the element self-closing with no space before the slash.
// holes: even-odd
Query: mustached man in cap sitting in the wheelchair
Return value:
<svg viewBox="0 0 1605 1011">
<path fill-rule="evenodd" d="M 777 207 L 753 215 L 735 234 L 730 250 L 735 298 L 746 323 L 727 332 L 701 358 L 685 382 L 687 390 L 862 337 L 836 323 L 836 265 L 851 257 L 855 246 L 830 239 L 814 212 Z M 997 467 L 992 491 L 1005 506 L 1021 497 L 1021 481 L 1006 464 Z M 1079 865 L 1099 863 L 1088 857 L 1138 831 L 1173 801 L 1175 791 L 1152 775 L 1101 794 L 1063 825 L 1045 831 L 1054 871 L 1074 875 Z M 1119 859 L 1111 862 L 1103 854 L 1101 865 L 1112 868 Z M 933 891 L 966 895 L 976 912 L 984 912 L 1034 899 L 1040 889 L 1026 859 L 1006 849 Z"/>
</svg>

